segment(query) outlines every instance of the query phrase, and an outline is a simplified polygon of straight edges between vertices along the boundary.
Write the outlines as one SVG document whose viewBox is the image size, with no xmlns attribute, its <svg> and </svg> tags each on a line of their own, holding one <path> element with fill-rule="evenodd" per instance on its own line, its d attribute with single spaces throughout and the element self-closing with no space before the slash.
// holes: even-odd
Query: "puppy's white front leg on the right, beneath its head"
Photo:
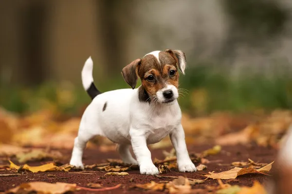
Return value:
<svg viewBox="0 0 292 194">
<path fill-rule="evenodd" d="M 178 128 L 171 131 L 170 140 L 177 155 L 177 163 L 179 171 L 181 172 L 193 172 L 197 171 L 195 164 L 191 161 L 184 139 L 183 126 L 180 124 Z"/>
</svg>

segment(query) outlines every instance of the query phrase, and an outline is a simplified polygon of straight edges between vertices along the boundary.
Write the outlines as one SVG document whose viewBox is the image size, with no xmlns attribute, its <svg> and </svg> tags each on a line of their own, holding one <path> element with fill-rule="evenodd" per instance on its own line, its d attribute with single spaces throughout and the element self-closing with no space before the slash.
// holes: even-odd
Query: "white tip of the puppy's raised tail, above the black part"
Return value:
<svg viewBox="0 0 292 194">
<path fill-rule="evenodd" d="M 82 77 L 82 84 L 85 90 L 87 90 L 91 83 L 93 82 L 92 78 L 92 69 L 93 69 L 93 62 L 91 57 L 89 57 L 82 69 L 81 77 Z"/>
</svg>

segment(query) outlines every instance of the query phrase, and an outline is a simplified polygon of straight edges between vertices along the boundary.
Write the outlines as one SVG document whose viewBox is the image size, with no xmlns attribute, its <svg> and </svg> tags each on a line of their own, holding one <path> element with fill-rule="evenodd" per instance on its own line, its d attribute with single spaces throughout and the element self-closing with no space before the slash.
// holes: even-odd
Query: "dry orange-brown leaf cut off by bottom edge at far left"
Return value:
<svg viewBox="0 0 292 194">
<path fill-rule="evenodd" d="M 64 194 L 70 191 L 76 191 L 76 184 L 69 184 L 64 182 L 29 182 L 22 183 L 20 186 L 10 189 L 6 193 L 21 194 L 24 192 L 37 192 L 40 194 Z"/>
</svg>

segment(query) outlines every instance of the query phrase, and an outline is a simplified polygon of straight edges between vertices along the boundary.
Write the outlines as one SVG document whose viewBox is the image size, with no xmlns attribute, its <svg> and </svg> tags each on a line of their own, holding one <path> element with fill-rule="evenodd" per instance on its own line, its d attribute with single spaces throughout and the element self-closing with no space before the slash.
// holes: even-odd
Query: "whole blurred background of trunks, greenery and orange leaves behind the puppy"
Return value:
<svg viewBox="0 0 292 194">
<path fill-rule="evenodd" d="M 291 10 L 291 0 L 3 0 L 0 142 L 71 148 L 91 102 L 89 56 L 105 92 L 129 88 L 121 69 L 133 60 L 180 49 L 187 141 L 276 147 L 292 122 Z"/>
</svg>

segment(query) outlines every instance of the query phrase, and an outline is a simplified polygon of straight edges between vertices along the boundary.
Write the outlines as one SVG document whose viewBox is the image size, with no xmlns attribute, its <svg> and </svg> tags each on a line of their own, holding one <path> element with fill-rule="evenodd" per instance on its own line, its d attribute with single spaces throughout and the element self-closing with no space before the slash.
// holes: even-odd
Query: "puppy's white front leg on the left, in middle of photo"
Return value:
<svg viewBox="0 0 292 194">
<path fill-rule="evenodd" d="M 131 128 L 129 133 L 133 151 L 140 167 L 140 173 L 144 175 L 159 174 L 158 168 L 151 160 L 151 152 L 147 147 L 144 130 Z"/>
</svg>

